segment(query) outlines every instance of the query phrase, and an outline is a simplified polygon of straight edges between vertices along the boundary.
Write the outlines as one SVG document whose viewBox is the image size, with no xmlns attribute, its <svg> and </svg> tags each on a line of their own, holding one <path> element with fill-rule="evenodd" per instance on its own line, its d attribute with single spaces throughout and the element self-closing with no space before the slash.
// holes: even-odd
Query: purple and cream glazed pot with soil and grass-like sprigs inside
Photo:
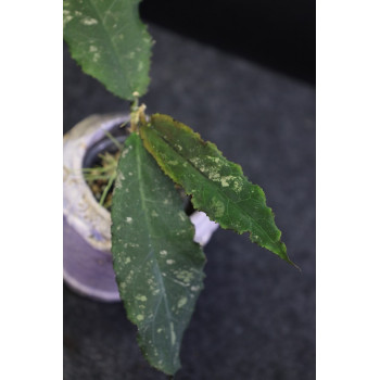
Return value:
<svg viewBox="0 0 380 380">
<path fill-rule="evenodd" d="M 99 301 L 119 301 L 111 255 L 112 188 L 117 157 L 128 136 L 121 125 L 129 114 L 91 115 L 64 136 L 63 143 L 63 278 L 76 292 Z M 195 228 L 194 241 L 205 245 L 218 225 L 183 210 Z"/>
</svg>

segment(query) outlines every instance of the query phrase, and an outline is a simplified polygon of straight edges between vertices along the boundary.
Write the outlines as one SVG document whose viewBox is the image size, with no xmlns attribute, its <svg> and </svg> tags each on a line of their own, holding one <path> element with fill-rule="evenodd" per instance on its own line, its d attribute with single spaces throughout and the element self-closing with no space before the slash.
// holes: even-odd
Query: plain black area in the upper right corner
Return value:
<svg viewBox="0 0 380 380">
<path fill-rule="evenodd" d="M 315 0 L 143 0 L 141 16 L 315 84 Z"/>
</svg>

